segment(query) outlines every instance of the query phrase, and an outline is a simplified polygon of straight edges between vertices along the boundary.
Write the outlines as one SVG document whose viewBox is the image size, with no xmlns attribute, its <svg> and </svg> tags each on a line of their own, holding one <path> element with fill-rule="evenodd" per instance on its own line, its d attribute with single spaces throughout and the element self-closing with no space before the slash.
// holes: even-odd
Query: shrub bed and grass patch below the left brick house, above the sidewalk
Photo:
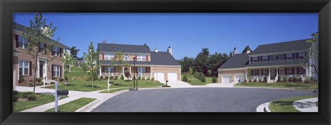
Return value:
<svg viewBox="0 0 331 125">
<path fill-rule="evenodd" d="M 40 106 L 42 104 L 48 104 L 55 101 L 54 95 L 50 94 L 15 91 L 14 97 L 15 96 L 18 98 L 18 100 L 12 104 L 13 112 L 23 111 L 35 106 Z M 28 98 L 30 98 L 30 100 Z"/>
</svg>

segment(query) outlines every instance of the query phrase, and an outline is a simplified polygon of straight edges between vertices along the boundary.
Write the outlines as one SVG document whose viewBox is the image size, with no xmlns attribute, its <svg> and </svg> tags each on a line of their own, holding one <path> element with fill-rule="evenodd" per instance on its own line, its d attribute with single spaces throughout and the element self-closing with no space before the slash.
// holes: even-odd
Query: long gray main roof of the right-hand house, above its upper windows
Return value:
<svg viewBox="0 0 331 125">
<path fill-rule="evenodd" d="M 251 52 L 249 55 L 268 54 L 274 52 L 289 52 L 289 51 L 309 49 L 311 45 L 310 43 L 307 43 L 307 41 L 311 39 L 312 38 L 298 40 L 298 41 L 288 41 L 282 43 L 259 45 L 257 49 L 254 49 L 254 51 Z"/>
</svg>

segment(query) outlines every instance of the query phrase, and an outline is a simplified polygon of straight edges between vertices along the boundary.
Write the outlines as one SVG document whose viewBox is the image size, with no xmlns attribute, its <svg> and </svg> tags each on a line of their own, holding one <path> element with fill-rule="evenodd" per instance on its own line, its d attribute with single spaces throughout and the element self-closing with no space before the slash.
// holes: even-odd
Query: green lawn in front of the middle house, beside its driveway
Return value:
<svg viewBox="0 0 331 125">
<path fill-rule="evenodd" d="M 74 80 L 72 78 L 77 77 Z M 83 71 L 80 67 L 73 67 L 72 71 L 68 75 L 68 84 L 64 84 L 64 82 L 59 82 L 59 89 L 66 89 L 72 91 L 99 91 L 103 89 L 108 89 L 107 82 L 108 80 L 96 80 L 94 81 L 94 85 L 92 88 L 92 81 L 86 81 L 87 74 L 86 71 Z M 114 82 L 110 86 L 110 88 L 122 88 L 122 87 L 133 87 L 132 82 L 126 82 L 124 80 L 111 80 Z M 138 87 L 159 87 L 162 86 L 162 83 L 152 82 L 150 80 L 139 80 Z M 54 89 L 55 86 L 48 86 L 48 89 Z"/>
</svg>

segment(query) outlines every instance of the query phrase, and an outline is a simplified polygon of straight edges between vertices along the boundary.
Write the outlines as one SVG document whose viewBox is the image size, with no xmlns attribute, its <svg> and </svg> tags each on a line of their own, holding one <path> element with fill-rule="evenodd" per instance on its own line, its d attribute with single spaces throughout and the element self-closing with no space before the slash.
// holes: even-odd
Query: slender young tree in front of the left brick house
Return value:
<svg viewBox="0 0 331 125">
<path fill-rule="evenodd" d="M 36 75 L 37 75 L 37 62 L 39 57 L 50 54 L 52 52 L 52 45 L 57 45 L 59 38 L 54 43 L 49 40 L 54 36 L 54 32 L 57 27 L 53 27 L 52 23 L 46 24 L 46 19 L 43 18 L 43 14 L 39 13 L 34 16 L 34 20 L 30 20 L 30 27 L 24 28 L 22 32 L 23 38 L 28 41 L 28 54 L 32 56 L 34 65 L 32 70 L 34 71 L 34 87 L 33 92 L 36 89 Z M 43 46 L 43 48 L 41 48 Z M 55 57 L 48 58 L 47 62 L 54 60 Z"/>
</svg>

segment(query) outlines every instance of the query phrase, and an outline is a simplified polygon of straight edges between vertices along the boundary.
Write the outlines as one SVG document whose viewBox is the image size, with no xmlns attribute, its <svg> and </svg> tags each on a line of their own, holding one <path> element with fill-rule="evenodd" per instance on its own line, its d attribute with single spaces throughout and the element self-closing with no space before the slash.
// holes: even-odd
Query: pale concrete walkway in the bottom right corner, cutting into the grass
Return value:
<svg viewBox="0 0 331 125">
<path fill-rule="evenodd" d="M 293 106 L 295 109 L 301 112 L 319 112 L 319 107 L 316 106 L 317 101 L 319 101 L 319 98 L 297 100 L 293 103 Z"/>
</svg>

